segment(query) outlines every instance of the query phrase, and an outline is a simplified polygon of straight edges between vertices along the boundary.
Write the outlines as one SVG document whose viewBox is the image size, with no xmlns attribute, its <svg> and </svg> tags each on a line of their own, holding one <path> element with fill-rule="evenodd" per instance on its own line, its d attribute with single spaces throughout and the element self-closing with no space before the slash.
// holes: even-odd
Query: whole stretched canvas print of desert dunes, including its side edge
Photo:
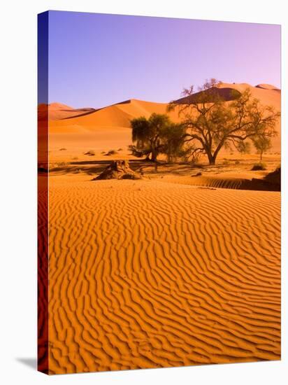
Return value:
<svg viewBox="0 0 288 385">
<path fill-rule="evenodd" d="M 38 15 L 38 370 L 280 360 L 280 26 Z"/>
</svg>

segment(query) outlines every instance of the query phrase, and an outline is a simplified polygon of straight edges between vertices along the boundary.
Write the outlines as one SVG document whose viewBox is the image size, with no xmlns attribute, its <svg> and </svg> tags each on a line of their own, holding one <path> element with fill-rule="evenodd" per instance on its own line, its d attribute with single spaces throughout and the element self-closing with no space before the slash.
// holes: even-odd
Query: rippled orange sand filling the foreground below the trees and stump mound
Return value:
<svg viewBox="0 0 288 385">
<path fill-rule="evenodd" d="M 50 176 L 50 374 L 280 358 L 280 193 Z"/>
</svg>

